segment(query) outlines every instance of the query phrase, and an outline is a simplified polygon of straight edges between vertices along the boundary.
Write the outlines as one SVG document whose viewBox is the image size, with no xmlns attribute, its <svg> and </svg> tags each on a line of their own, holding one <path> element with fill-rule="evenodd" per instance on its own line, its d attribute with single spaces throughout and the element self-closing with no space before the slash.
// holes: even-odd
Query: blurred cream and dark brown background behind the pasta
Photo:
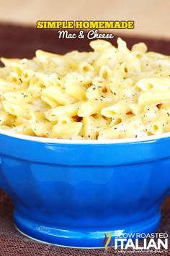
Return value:
<svg viewBox="0 0 170 256">
<path fill-rule="evenodd" d="M 37 20 L 134 20 L 135 29 L 109 30 L 128 48 L 143 41 L 149 51 L 170 55 L 170 0 L 0 0 L 0 56 L 32 58 L 40 48 L 58 54 L 89 51 L 87 38 L 58 39 L 57 30 L 37 30 Z M 104 30 L 101 30 L 104 33 Z M 1 63 L 0 63 L 1 66 Z"/>
</svg>

